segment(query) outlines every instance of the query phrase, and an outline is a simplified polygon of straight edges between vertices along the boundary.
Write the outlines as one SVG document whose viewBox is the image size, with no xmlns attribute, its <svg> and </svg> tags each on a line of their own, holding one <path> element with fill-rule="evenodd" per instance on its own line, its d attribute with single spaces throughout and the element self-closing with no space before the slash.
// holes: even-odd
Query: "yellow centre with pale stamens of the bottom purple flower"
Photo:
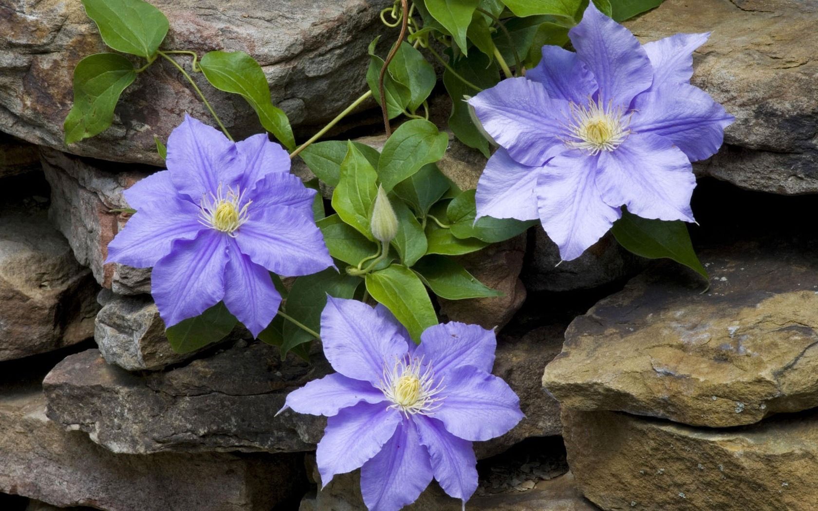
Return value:
<svg viewBox="0 0 818 511">
<path fill-rule="evenodd" d="M 443 401 L 443 397 L 438 397 L 443 391 L 443 379 L 436 382 L 431 366 L 424 365 L 419 358 L 398 357 L 391 370 L 384 365 L 384 378 L 378 388 L 392 401 L 389 408 L 407 416 L 434 415 Z"/>
</svg>

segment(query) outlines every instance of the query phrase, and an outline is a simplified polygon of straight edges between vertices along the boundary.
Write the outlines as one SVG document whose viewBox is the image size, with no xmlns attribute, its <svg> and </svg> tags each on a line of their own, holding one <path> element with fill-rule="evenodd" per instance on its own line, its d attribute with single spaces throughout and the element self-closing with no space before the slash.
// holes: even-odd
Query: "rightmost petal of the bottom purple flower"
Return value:
<svg viewBox="0 0 818 511">
<path fill-rule="evenodd" d="M 456 437 L 473 442 L 499 437 L 523 419 L 519 397 L 502 379 L 461 365 L 447 374 L 446 398 L 434 412 Z"/>
</svg>

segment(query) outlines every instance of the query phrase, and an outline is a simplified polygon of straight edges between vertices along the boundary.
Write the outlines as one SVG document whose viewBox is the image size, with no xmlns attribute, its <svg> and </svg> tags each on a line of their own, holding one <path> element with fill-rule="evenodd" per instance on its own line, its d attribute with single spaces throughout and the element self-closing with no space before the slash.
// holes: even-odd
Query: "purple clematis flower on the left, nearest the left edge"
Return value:
<svg viewBox="0 0 818 511">
<path fill-rule="evenodd" d="M 289 155 L 266 133 L 234 143 L 187 115 L 166 163 L 124 191 L 137 213 L 106 262 L 153 267 L 151 294 L 168 327 L 223 301 L 258 335 L 281 303 L 269 271 L 332 265 L 312 217 L 316 191 L 290 174 Z"/>
</svg>

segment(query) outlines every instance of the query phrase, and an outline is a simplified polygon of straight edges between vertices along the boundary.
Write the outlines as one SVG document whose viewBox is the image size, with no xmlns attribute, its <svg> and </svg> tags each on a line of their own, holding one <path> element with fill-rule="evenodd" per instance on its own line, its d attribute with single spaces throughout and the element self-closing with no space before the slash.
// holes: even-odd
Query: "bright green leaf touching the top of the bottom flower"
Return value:
<svg viewBox="0 0 818 511">
<path fill-rule="evenodd" d="M 393 264 L 366 274 L 366 290 L 407 327 L 416 343 L 420 343 L 420 334 L 425 329 L 438 324 L 423 282 L 407 267 Z"/>
</svg>

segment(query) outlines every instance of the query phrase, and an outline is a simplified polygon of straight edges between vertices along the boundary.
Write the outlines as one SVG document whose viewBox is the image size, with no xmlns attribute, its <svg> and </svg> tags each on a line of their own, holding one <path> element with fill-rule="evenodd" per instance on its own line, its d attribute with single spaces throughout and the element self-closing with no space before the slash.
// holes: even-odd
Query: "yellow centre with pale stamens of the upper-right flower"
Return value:
<svg viewBox="0 0 818 511">
<path fill-rule="evenodd" d="M 631 133 L 627 128 L 630 118 L 624 118 L 622 107 L 612 108 L 610 103 L 606 107 L 601 100 L 589 98 L 587 105 L 571 103 L 570 108 L 571 140 L 565 141 L 569 147 L 596 155 L 616 149 Z"/>
</svg>

